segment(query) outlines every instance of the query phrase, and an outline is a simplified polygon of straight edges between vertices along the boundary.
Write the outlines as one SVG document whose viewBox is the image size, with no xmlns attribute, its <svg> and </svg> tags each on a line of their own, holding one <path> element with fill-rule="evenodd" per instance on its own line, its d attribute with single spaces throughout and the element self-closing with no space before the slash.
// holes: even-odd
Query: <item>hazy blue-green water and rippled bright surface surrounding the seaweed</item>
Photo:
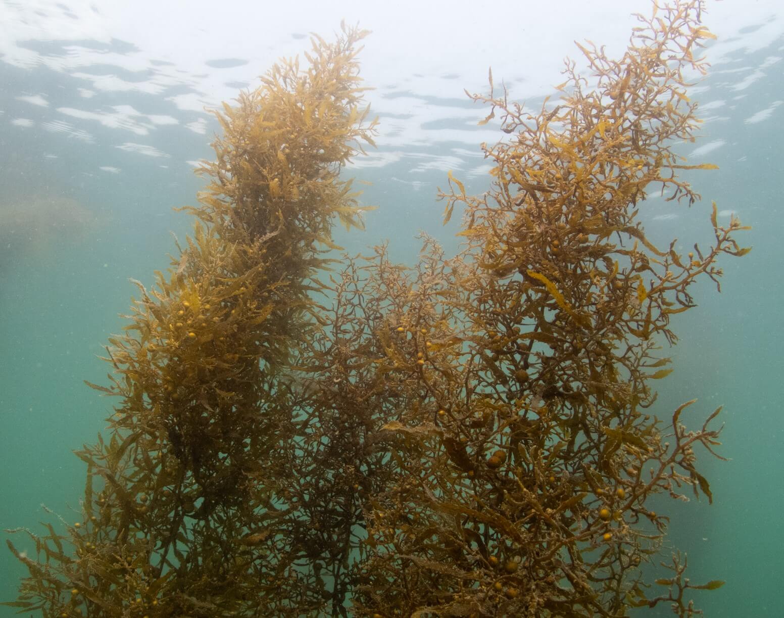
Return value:
<svg viewBox="0 0 784 618">
<path fill-rule="evenodd" d="M 361 54 L 377 150 L 345 170 L 369 184 L 378 205 L 364 232 L 337 231 L 348 253 L 390 240 L 390 256 L 412 264 L 419 231 L 459 246 L 453 220 L 441 225 L 434 201 L 448 170 L 470 193 L 488 187 L 479 144 L 499 140 L 493 122 L 463 93 L 487 89 L 488 67 L 529 109 L 563 81 L 573 41 L 622 53 L 633 2 L 519 2 L 482 9 L 471 2 L 0 2 L 0 528 L 38 532 L 71 522 L 85 466 L 71 450 L 94 442 L 111 400 L 82 380 L 105 384 L 97 358 L 122 329 L 134 286 L 169 265 L 173 231 L 191 218 L 194 163 L 210 158 L 219 129 L 205 107 L 254 88 L 279 56 L 307 49 L 359 22 L 373 34 Z M 726 580 L 695 592 L 706 616 L 784 615 L 784 375 L 782 179 L 784 179 L 784 9 L 778 2 L 709 2 L 704 23 L 717 37 L 710 74 L 691 89 L 705 120 L 690 163 L 719 171 L 687 176 L 703 202 L 689 209 L 652 196 L 641 220 L 652 242 L 678 247 L 710 238 L 710 201 L 720 223 L 731 213 L 753 230 L 742 260 L 723 260 L 722 290 L 695 285 L 699 307 L 673 320 L 680 336 L 673 373 L 659 383 L 655 413 L 682 402 L 696 423 L 718 405 L 725 427 L 721 462 L 702 472 L 714 502 L 663 500 L 669 547 L 688 554 L 695 581 Z M 688 250 L 688 249 L 686 249 Z M 365 252 L 366 253 L 366 252 Z M 688 416 L 685 419 L 688 424 Z M 55 521 L 55 525 L 58 523 Z M 34 554 L 31 543 L 16 541 Z M 28 547 L 29 546 L 29 547 Z M 3 548 L 4 549 L 4 548 Z M 11 600 L 24 568 L 0 552 L 0 598 Z M 643 612 L 639 612 L 642 614 Z M 666 616 L 666 606 L 648 615 Z M 13 609 L 0 609 L 0 616 Z"/>
</svg>

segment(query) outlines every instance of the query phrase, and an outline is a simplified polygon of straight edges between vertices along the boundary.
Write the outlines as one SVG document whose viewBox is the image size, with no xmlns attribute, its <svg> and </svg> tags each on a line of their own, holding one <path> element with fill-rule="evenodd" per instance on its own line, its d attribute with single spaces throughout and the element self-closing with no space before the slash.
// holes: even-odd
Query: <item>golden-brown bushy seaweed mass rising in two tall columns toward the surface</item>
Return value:
<svg viewBox="0 0 784 618">
<path fill-rule="evenodd" d="M 619 60 L 580 49 L 563 96 L 501 120 L 490 191 L 452 174 L 466 245 L 414 267 L 385 246 L 336 259 L 361 226 L 339 171 L 373 144 L 358 78 L 365 32 L 314 37 L 216 113 L 223 136 L 194 233 L 107 347 L 119 398 L 86 445 L 83 517 L 27 530 L 38 559 L 9 603 L 43 616 L 626 616 L 700 586 L 652 496 L 702 493 L 693 402 L 655 410 L 670 321 L 743 255 L 738 220 L 682 255 L 638 216 L 648 191 L 691 205 L 673 144 L 692 140 L 702 2 L 640 16 Z M 657 416 L 657 414 L 659 416 Z M 654 587 L 655 586 L 655 587 Z"/>
</svg>

